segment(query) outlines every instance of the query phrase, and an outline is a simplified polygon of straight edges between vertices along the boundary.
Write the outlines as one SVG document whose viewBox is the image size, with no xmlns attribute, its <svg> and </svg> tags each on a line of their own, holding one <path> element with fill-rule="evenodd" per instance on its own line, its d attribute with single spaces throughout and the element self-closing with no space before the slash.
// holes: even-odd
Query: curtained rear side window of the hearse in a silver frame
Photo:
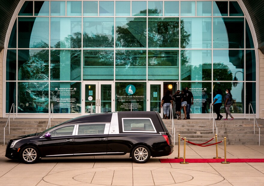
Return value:
<svg viewBox="0 0 264 186">
<path fill-rule="evenodd" d="M 123 131 L 156 132 L 150 118 L 122 118 Z"/>
</svg>

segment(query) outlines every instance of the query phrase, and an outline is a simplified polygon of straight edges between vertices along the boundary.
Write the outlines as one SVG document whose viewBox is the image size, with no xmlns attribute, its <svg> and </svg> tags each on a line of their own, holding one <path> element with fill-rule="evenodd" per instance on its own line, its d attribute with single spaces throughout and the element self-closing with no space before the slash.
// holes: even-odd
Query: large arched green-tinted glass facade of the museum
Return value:
<svg viewBox="0 0 264 186">
<path fill-rule="evenodd" d="M 12 103 L 17 113 L 51 105 L 56 114 L 161 112 L 169 82 L 193 92 L 191 114 L 208 113 L 215 91 L 227 88 L 233 113 L 256 109 L 256 49 L 237 1 L 28 0 L 19 8 L 5 60 L 6 113 Z"/>
</svg>

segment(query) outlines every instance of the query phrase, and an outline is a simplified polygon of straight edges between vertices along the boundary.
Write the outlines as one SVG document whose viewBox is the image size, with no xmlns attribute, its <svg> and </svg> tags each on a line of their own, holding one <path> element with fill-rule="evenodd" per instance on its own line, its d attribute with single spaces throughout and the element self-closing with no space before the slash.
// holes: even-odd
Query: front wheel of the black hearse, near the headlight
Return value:
<svg viewBox="0 0 264 186">
<path fill-rule="evenodd" d="M 23 163 L 34 164 L 38 161 L 38 149 L 34 146 L 25 146 L 20 152 L 20 159 Z"/>
</svg>

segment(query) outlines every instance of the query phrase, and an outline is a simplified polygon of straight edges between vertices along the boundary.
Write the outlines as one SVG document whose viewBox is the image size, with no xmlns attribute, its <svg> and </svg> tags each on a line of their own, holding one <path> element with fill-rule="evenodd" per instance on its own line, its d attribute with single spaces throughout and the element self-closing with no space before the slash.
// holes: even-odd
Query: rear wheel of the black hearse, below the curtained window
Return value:
<svg viewBox="0 0 264 186">
<path fill-rule="evenodd" d="M 146 163 L 150 158 L 150 150 L 145 145 L 138 145 L 132 150 L 131 157 L 136 163 Z"/>
</svg>

